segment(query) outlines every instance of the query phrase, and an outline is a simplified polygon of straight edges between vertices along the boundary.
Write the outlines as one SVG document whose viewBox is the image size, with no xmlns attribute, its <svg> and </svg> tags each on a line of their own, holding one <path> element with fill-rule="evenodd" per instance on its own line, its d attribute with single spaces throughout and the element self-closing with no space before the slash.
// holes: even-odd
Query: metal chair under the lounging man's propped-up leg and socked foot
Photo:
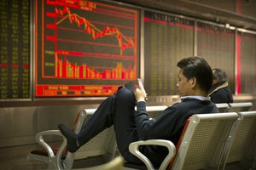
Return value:
<svg viewBox="0 0 256 170">
<path fill-rule="evenodd" d="M 83 124 L 86 123 L 96 109 L 83 109 L 79 111 L 74 126 L 74 133 L 79 133 Z M 49 135 L 59 136 L 62 143 L 59 147 L 50 146 L 46 137 Z M 36 134 L 38 144 L 44 147 L 44 150 L 32 150 L 26 157 L 27 160 L 44 161 L 48 164 L 48 169 L 71 169 L 73 161 L 83 159 L 88 156 L 104 155 L 106 160 L 112 160 L 116 150 L 113 127 L 107 128 L 102 133 L 96 135 L 87 144 L 84 144 L 75 153 L 67 151 L 67 139 L 59 130 L 48 130 Z"/>
</svg>

